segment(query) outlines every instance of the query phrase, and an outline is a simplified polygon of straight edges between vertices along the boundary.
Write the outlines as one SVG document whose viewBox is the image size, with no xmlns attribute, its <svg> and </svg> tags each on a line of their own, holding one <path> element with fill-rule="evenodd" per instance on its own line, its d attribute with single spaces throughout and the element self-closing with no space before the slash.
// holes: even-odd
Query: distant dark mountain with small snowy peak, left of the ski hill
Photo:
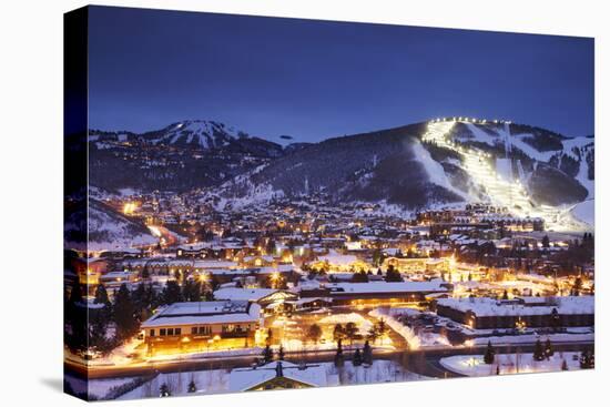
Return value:
<svg viewBox="0 0 610 407">
<path fill-rule="evenodd" d="M 89 131 L 90 180 L 109 191 L 215 186 L 284 154 L 223 123 L 189 120 L 145 133 Z"/>
</svg>

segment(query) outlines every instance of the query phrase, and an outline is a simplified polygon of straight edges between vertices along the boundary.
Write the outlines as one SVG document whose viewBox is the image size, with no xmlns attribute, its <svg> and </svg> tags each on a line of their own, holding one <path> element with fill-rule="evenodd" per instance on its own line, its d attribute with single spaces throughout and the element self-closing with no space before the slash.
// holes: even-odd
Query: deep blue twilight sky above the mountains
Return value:
<svg viewBox="0 0 610 407">
<path fill-rule="evenodd" d="M 92 7 L 90 128 L 298 141 L 443 115 L 593 133 L 593 40 Z"/>
</svg>

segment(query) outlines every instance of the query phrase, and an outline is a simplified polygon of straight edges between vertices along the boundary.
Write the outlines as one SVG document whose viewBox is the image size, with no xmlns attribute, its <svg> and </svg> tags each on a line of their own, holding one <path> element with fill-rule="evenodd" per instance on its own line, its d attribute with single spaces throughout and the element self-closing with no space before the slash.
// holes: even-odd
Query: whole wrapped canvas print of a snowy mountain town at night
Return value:
<svg viewBox="0 0 610 407">
<path fill-rule="evenodd" d="M 591 38 L 65 14 L 65 391 L 593 368 L 593 52 Z"/>
</svg>

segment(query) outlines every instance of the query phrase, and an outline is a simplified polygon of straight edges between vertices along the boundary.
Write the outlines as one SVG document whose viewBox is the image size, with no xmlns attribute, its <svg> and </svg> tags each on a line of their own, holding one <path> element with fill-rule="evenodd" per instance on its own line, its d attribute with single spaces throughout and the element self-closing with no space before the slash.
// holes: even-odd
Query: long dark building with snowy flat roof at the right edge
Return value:
<svg viewBox="0 0 610 407">
<path fill-rule="evenodd" d="M 436 312 L 475 329 L 592 326 L 594 297 L 439 298 Z"/>
</svg>

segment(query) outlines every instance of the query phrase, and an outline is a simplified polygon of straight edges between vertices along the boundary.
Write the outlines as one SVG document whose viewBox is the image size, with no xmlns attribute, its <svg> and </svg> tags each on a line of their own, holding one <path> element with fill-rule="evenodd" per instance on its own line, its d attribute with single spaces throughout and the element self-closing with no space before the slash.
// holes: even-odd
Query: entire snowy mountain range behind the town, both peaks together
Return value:
<svg viewBox="0 0 610 407">
<path fill-rule="evenodd" d="M 584 202 L 594 199 L 592 136 L 505 121 L 447 118 L 276 143 L 193 120 L 142 134 L 90 131 L 89 140 L 93 186 L 202 189 L 202 200 L 222 208 L 324 191 L 337 202 L 406 210 L 482 201 L 558 220 L 572 210 L 591 212 Z"/>
</svg>

